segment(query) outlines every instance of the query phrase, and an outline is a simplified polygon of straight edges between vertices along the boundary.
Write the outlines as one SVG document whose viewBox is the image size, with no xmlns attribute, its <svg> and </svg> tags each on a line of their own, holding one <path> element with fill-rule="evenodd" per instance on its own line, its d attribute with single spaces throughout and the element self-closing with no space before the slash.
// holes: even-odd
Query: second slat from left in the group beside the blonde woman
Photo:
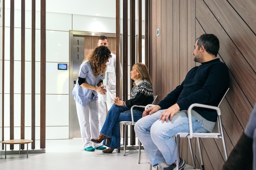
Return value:
<svg viewBox="0 0 256 170">
<path fill-rule="evenodd" d="M 124 0 L 124 9 L 123 9 L 123 18 L 124 18 L 124 25 L 123 25 L 123 99 L 128 99 L 128 0 Z"/>
</svg>

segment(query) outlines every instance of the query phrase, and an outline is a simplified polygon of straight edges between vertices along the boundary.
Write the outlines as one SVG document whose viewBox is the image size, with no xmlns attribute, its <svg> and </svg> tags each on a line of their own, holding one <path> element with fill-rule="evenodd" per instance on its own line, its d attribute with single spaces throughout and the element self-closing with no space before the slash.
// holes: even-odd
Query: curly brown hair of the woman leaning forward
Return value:
<svg viewBox="0 0 256 170">
<path fill-rule="evenodd" d="M 107 69 L 106 60 L 111 57 L 111 52 L 106 46 L 96 47 L 85 60 L 89 60 L 92 65 L 94 77 L 103 75 Z M 83 60 L 83 62 L 85 61 Z"/>
</svg>

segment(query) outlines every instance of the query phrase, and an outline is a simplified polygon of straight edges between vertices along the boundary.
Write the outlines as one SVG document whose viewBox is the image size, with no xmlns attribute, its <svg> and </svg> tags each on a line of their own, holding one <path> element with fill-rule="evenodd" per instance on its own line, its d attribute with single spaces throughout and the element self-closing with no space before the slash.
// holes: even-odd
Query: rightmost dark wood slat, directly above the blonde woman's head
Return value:
<svg viewBox="0 0 256 170">
<path fill-rule="evenodd" d="M 148 21 L 148 0 L 145 0 L 145 64 L 149 69 L 149 56 L 148 56 L 148 32 L 149 32 L 149 21 Z"/>
</svg>

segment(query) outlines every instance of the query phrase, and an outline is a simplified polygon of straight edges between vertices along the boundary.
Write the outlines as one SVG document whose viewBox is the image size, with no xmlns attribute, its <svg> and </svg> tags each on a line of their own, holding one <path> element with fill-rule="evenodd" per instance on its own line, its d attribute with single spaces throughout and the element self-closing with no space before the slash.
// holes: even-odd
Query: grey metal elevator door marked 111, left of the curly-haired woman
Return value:
<svg viewBox="0 0 256 170">
<path fill-rule="evenodd" d="M 83 62 L 84 59 L 84 36 L 74 36 L 73 37 L 73 46 L 71 47 L 71 51 L 72 51 L 72 61 L 73 61 L 73 86 L 71 87 L 72 89 L 74 88 L 75 84 L 78 83 L 76 82 L 78 79 L 78 73 L 79 73 L 79 67 Z M 79 126 L 79 121 L 77 118 L 77 114 L 76 114 L 76 102 L 74 101 L 74 99 L 72 99 L 72 101 L 70 101 L 70 104 L 73 105 L 73 109 L 72 109 L 72 124 L 73 124 L 73 130 L 72 130 L 72 135 L 71 138 L 80 138 L 81 137 L 81 132 L 80 132 L 80 126 Z"/>
</svg>

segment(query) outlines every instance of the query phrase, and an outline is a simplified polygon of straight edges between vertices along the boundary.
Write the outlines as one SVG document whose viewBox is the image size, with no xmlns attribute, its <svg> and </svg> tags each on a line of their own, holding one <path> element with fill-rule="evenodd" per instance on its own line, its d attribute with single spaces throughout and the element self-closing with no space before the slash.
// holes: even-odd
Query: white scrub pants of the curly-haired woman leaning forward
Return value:
<svg viewBox="0 0 256 170">
<path fill-rule="evenodd" d="M 99 137 L 99 104 L 98 101 L 90 101 L 86 107 L 76 102 L 77 117 L 80 125 L 83 148 L 90 146 L 97 148 L 102 144 L 96 144 L 91 138 Z"/>
</svg>

